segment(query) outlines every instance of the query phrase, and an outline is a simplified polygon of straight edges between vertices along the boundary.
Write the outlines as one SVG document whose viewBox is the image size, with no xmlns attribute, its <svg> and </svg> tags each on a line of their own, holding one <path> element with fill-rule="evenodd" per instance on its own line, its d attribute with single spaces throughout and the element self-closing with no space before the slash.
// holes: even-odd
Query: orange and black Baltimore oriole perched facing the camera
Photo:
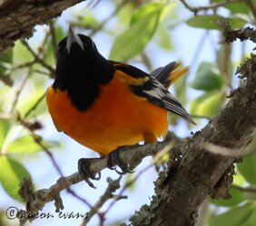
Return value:
<svg viewBox="0 0 256 226">
<path fill-rule="evenodd" d="M 194 123 L 168 91 L 188 71 L 171 62 L 148 74 L 131 65 L 106 60 L 93 40 L 69 35 L 58 44 L 54 84 L 46 101 L 54 126 L 101 155 L 166 135 L 170 111 Z M 85 174 L 88 175 L 88 174 Z M 90 176 L 91 177 L 91 176 Z"/>
</svg>

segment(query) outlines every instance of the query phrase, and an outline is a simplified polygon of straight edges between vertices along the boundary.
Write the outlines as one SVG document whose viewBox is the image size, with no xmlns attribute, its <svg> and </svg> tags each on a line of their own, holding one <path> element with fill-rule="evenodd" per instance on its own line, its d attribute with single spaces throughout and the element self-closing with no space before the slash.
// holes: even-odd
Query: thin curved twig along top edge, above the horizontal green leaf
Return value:
<svg viewBox="0 0 256 226">
<path fill-rule="evenodd" d="M 245 0 L 229 0 L 229 1 L 221 2 L 221 3 L 214 3 L 211 5 L 197 6 L 197 7 L 192 7 L 191 5 L 188 5 L 185 0 L 180 0 L 180 1 L 188 10 L 190 10 L 192 13 L 194 13 L 196 15 L 200 11 L 207 11 L 210 9 L 216 10 L 219 7 L 222 7 L 225 5 L 230 5 L 232 3 L 241 3 L 241 2 L 244 2 Z"/>
</svg>

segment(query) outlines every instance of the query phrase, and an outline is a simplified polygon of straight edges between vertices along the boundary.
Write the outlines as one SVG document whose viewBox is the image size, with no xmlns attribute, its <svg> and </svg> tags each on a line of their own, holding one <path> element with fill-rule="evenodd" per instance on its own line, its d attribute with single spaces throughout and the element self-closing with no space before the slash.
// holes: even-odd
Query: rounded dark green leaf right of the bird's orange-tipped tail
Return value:
<svg viewBox="0 0 256 226">
<path fill-rule="evenodd" d="M 193 89 L 213 90 L 221 89 L 224 80 L 220 71 L 210 62 L 202 62 L 196 72 L 196 77 L 192 80 Z"/>
</svg>

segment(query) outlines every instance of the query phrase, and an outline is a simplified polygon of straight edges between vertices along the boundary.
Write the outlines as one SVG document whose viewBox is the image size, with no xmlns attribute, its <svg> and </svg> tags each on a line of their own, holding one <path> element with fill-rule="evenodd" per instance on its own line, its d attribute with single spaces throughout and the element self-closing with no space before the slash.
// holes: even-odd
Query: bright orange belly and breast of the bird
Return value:
<svg viewBox="0 0 256 226">
<path fill-rule="evenodd" d="M 115 78 L 89 110 L 74 108 L 66 91 L 52 87 L 46 101 L 58 130 L 102 155 L 167 133 L 167 110 L 134 95 Z"/>
</svg>

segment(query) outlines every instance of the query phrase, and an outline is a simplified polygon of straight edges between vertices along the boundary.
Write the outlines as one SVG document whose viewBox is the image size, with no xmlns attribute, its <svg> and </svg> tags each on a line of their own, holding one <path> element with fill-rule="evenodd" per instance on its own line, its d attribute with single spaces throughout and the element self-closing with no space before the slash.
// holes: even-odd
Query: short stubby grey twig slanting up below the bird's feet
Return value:
<svg viewBox="0 0 256 226">
<path fill-rule="evenodd" d="M 103 195 L 100 197 L 100 199 L 94 204 L 94 208 L 91 209 L 90 212 L 88 212 L 87 218 L 84 218 L 84 221 L 81 223 L 80 226 L 86 225 L 93 218 L 96 211 L 99 210 L 106 201 L 113 198 L 113 193 L 118 188 L 120 188 L 121 178 L 122 178 L 121 176 L 116 180 L 112 180 L 111 178 L 107 178 L 107 182 L 108 182 L 107 189 L 105 190 Z"/>
</svg>

